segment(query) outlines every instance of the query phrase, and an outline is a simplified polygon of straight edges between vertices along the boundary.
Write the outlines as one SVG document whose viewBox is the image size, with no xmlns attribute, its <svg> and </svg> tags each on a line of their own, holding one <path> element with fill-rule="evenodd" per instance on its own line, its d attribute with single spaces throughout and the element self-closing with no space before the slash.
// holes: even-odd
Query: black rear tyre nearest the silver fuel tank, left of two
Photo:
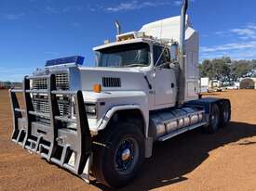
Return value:
<svg viewBox="0 0 256 191">
<path fill-rule="evenodd" d="M 210 114 L 209 114 L 209 125 L 206 127 L 206 130 L 209 134 L 215 133 L 220 126 L 221 113 L 219 106 L 214 103 L 211 104 Z"/>
</svg>

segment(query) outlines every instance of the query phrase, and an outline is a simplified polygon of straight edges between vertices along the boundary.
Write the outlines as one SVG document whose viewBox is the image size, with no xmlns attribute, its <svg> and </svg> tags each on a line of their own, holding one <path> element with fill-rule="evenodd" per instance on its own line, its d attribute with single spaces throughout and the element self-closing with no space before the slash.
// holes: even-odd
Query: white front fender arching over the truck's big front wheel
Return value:
<svg viewBox="0 0 256 191">
<path fill-rule="evenodd" d="M 148 99 L 142 91 L 112 91 L 94 93 L 83 91 L 85 102 L 98 103 L 97 119 L 88 118 L 89 128 L 92 132 L 104 129 L 115 111 L 126 109 L 139 109 L 144 118 L 144 123 L 148 126 L 149 108 Z M 100 103 L 104 102 L 104 106 Z M 147 133 L 147 130 L 146 130 Z"/>
</svg>

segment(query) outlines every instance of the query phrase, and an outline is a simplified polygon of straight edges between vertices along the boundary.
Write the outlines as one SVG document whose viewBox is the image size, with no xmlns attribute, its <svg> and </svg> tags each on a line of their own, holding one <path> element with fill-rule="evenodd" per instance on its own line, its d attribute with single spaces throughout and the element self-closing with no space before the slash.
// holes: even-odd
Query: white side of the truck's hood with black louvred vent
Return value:
<svg viewBox="0 0 256 191">
<path fill-rule="evenodd" d="M 101 84 L 102 91 L 148 90 L 144 71 L 138 68 L 80 67 L 79 73 L 84 91 L 91 91 L 95 83 Z"/>
</svg>

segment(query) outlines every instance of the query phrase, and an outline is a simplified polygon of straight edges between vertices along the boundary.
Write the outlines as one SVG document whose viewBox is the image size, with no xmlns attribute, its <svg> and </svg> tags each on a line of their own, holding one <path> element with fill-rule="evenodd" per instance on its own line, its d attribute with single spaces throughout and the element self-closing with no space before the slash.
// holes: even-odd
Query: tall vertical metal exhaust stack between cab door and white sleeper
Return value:
<svg viewBox="0 0 256 191">
<path fill-rule="evenodd" d="M 185 99 L 185 22 L 186 22 L 186 12 L 188 7 L 188 0 L 182 0 L 182 12 L 181 12 L 181 37 L 180 37 L 180 71 L 178 77 L 178 106 L 184 103 Z"/>
</svg>

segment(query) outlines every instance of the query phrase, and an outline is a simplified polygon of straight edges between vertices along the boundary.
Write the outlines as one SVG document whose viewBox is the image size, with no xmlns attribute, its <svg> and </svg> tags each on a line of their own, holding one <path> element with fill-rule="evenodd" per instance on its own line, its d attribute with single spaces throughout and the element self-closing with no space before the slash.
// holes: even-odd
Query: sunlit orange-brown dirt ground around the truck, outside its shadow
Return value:
<svg viewBox="0 0 256 191">
<path fill-rule="evenodd" d="M 209 96 L 230 98 L 232 121 L 216 134 L 198 130 L 157 143 L 137 179 L 123 190 L 256 191 L 256 91 Z M 105 190 L 9 140 L 12 119 L 7 91 L 0 91 L 0 190 Z"/>
</svg>

